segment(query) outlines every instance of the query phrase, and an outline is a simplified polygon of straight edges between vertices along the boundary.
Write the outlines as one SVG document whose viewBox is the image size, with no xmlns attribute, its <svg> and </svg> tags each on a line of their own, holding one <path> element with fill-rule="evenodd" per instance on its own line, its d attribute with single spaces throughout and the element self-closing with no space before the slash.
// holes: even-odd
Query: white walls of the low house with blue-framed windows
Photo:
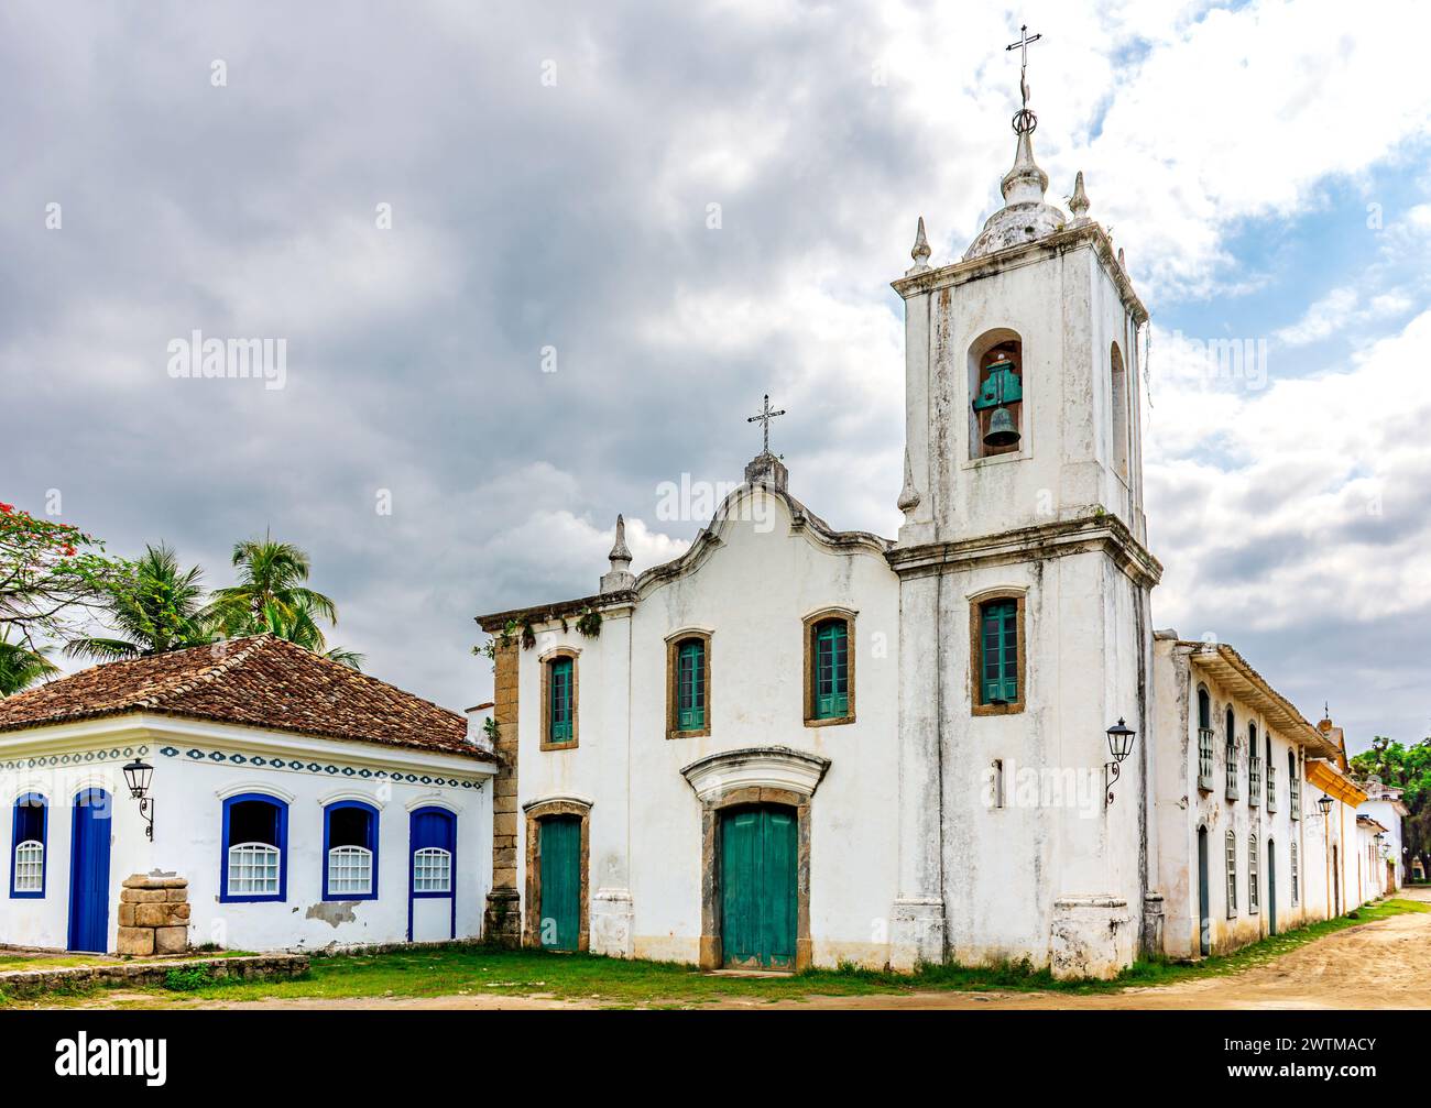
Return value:
<svg viewBox="0 0 1431 1108">
<path fill-rule="evenodd" d="M 193 758 L 190 751 L 202 756 Z M 216 753 L 222 759 L 213 758 Z M 235 755 L 245 761 L 235 761 Z M 133 756 L 155 766 L 152 844 L 120 771 Z M 255 758 L 265 765 L 255 765 Z M 275 759 L 282 759 L 283 768 L 273 768 Z M 290 762 L 301 768 L 290 768 Z M 130 716 L 0 736 L 3 799 L 13 805 L 24 792 L 40 792 L 50 803 L 46 896 L 6 898 L 0 904 L 0 942 L 66 946 L 72 803 L 84 788 L 103 788 L 113 798 L 109 949 L 114 949 L 123 879 L 152 869 L 187 878 L 193 945 L 218 942 L 229 949 L 268 951 L 402 942 L 408 935 L 409 809 L 422 805 L 456 813 L 455 936 L 477 936 L 491 886 L 489 773 L 488 765 L 456 755 L 159 718 Z M 429 783 L 422 783 L 422 776 Z M 235 792 L 262 792 L 288 802 L 288 889 L 282 902 L 219 902 L 223 798 Z M 379 809 L 378 899 L 323 901 L 323 806 L 336 799 L 361 799 Z M 11 826 L 6 812 L 0 819 L 6 881 L 13 856 Z M 419 915 L 434 905 L 419 902 Z M 449 909 L 446 915 L 451 919 Z"/>
</svg>

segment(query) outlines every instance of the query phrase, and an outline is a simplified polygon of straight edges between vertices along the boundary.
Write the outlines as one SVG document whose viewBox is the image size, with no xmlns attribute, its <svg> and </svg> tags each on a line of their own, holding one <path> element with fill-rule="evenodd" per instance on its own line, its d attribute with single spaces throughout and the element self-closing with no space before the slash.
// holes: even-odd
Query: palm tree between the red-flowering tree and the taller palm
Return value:
<svg viewBox="0 0 1431 1108">
<path fill-rule="evenodd" d="M 199 566 L 179 569 L 179 556 L 167 543 L 146 546 L 133 573 L 110 589 L 106 608 L 119 635 L 72 639 L 64 653 L 113 662 L 213 642 L 202 579 Z"/>
</svg>

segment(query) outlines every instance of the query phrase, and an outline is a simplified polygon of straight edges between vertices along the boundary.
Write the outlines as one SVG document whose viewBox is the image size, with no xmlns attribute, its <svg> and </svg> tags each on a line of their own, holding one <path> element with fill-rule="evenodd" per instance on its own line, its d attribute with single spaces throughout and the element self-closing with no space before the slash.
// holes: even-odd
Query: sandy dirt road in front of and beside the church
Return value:
<svg viewBox="0 0 1431 1108">
<path fill-rule="evenodd" d="M 1431 889 L 1404 889 L 1404 899 L 1431 902 Z M 552 996 L 415 996 L 343 1001 L 249 1001 L 205 1004 L 205 1008 L 290 1008 L 296 1011 L 531 1011 L 600 1008 L 602 1001 L 560 1001 Z M 1431 1008 L 1431 914 L 1392 916 L 1347 928 L 1299 946 L 1276 961 L 1228 976 L 1161 988 L 1132 988 L 1095 996 L 1059 992 L 909 992 L 869 996 L 811 996 L 770 1004 L 733 998 L 698 1008 L 774 1011 L 810 1009 L 1276 1009 L 1276 1008 Z"/>
</svg>

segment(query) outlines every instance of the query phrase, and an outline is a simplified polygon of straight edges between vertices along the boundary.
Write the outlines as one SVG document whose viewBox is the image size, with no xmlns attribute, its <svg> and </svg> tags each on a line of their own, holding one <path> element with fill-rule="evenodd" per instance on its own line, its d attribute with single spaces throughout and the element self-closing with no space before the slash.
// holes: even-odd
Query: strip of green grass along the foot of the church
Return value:
<svg viewBox="0 0 1431 1108">
<path fill-rule="evenodd" d="M 1229 955 L 1199 962 L 1141 961 L 1116 981 L 1055 981 L 1027 962 L 987 966 L 932 965 L 916 974 L 889 974 L 856 966 L 809 969 L 768 978 L 705 974 L 674 962 L 637 962 L 587 954 L 505 951 L 452 944 L 384 954 L 315 955 L 306 976 L 283 981 L 213 981 L 175 969 L 162 991 L 173 1001 L 258 1001 L 305 998 L 529 996 L 597 1001 L 607 1006 L 687 1006 L 714 1001 L 800 1001 L 809 996 L 860 996 L 920 991 L 1017 991 L 1073 995 L 1113 992 L 1129 986 L 1173 985 L 1181 981 L 1236 974 L 1278 958 L 1324 935 L 1404 912 L 1431 912 L 1415 901 L 1379 901 L 1359 909 L 1358 919 L 1338 919 L 1288 931 Z"/>
</svg>

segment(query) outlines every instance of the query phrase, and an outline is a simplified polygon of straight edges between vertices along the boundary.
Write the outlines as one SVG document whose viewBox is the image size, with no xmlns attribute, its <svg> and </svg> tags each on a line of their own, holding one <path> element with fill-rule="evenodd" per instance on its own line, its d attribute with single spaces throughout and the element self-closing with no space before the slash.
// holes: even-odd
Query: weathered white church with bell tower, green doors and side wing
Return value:
<svg viewBox="0 0 1431 1108">
<path fill-rule="evenodd" d="M 618 520 L 598 593 L 479 618 L 492 934 L 1110 976 L 1347 909 L 1305 781 L 1328 739 L 1235 652 L 1153 633 L 1148 313 L 1082 174 L 1072 216 L 1046 186 L 1025 127 L 964 257 L 932 267 L 920 222 L 894 282 L 897 538 L 831 530 L 767 449 L 675 562 L 633 575 Z"/>
</svg>

